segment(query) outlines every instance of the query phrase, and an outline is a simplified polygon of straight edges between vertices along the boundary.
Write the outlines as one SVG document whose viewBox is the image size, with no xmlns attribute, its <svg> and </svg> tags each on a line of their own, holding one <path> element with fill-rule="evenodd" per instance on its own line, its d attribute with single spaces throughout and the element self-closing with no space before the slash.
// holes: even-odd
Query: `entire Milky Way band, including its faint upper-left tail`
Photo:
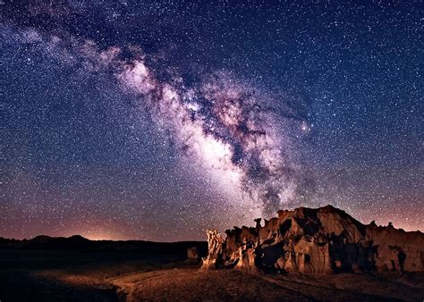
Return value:
<svg viewBox="0 0 424 302">
<path fill-rule="evenodd" d="M 291 138 L 284 133 L 287 123 L 299 123 L 293 108 L 284 108 L 290 119 L 279 117 L 269 107 L 275 100 L 229 72 L 202 75 L 190 87 L 175 74 L 169 81 L 158 80 L 146 63 L 152 58 L 142 55 L 140 47 L 130 46 L 133 58 L 123 60 L 118 46 L 100 51 L 91 40 L 46 37 L 33 29 L 15 34 L 18 43 L 64 65 L 81 64 L 89 74 L 113 73 L 123 92 L 135 98 L 140 119 L 149 116 L 166 130 L 174 147 L 212 174 L 224 191 L 241 195 L 243 208 L 253 206 L 260 216 L 295 204 L 299 167 L 293 163 Z"/>
</svg>

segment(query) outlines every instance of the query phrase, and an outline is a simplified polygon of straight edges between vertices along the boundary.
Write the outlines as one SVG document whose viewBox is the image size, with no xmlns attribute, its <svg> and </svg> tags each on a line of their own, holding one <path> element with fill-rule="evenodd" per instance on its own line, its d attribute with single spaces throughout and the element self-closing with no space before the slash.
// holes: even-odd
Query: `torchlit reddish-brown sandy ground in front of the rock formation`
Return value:
<svg viewBox="0 0 424 302">
<path fill-rule="evenodd" d="M 134 273 L 109 281 L 128 301 L 422 301 L 422 284 L 412 287 L 394 281 L 395 278 L 340 274 L 317 280 L 301 275 L 251 275 L 237 271 L 199 272 L 197 268 L 175 268 Z"/>
</svg>

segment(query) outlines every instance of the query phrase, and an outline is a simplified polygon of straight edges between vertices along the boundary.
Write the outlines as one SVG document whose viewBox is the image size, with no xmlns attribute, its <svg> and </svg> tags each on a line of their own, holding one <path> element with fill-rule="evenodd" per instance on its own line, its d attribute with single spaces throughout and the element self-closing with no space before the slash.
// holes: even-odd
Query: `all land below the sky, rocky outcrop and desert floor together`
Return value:
<svg viewBox="0 0 424 302">
<path fill-rule="evenodd" d="M 423 236 L 326 206 L 208 242 L 0 239 L 0 300 L 422 301 Z"/>
</svg>

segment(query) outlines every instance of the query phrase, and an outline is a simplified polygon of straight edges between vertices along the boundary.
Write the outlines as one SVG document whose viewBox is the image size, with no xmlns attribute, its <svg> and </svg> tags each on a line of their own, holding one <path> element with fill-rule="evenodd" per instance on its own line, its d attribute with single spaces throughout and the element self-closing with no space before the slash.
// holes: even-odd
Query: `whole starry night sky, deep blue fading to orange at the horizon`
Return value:
<svg viewBox="0 0 424 302">
<path fill-rule="evenodd" d="M 421 1 L 0 1 L 0 236 L 424 230 Z"/>
</svg>

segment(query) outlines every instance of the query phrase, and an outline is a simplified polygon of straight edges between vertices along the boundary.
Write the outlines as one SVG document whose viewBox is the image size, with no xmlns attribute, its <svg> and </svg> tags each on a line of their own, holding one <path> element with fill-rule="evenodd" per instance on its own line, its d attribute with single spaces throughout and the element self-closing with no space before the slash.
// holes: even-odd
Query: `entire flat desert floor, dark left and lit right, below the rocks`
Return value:
<svg viewBox="0 0 424 302">
<path fill-rule="evenodd" d="M 5 301 L 422 301 L 423 273 L 301 274 L 199 270 L 178 255 L 0 251 Z"/>
</svg>

